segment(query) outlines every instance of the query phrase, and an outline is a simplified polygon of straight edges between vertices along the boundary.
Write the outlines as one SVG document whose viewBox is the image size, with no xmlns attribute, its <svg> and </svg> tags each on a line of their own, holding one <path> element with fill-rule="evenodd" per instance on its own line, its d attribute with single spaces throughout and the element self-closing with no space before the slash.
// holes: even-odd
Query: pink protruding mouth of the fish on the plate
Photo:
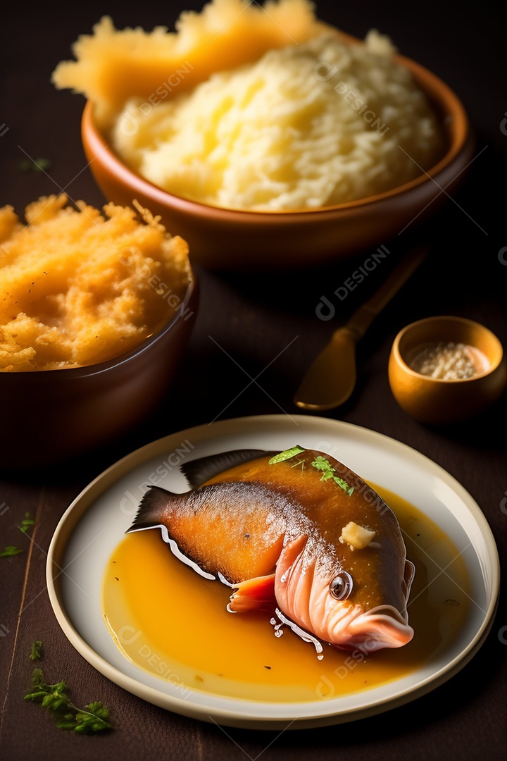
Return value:
<svg viewBox="0 0 507 761">
<path fill-rule="evenodd" d="M 401 648 L 414 637 L 406 616 L 392 605 L 379 605 L 361 613 L 350 622 L 349 632 L 347 645 L 368 653 L 380 648 Z"/>
</svg>

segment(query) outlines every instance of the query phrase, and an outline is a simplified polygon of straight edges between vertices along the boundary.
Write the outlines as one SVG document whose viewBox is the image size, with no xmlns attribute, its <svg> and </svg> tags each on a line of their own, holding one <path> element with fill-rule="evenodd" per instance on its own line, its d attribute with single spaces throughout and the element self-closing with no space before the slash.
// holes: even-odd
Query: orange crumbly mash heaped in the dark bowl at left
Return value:
<svg viewBox="0 0 507 761">
<path fill-rule="evenodd" d="M 188 247 L 149 212 L 105 216 L 67 196 L 0 209 L 0 371 L 90 365 L 127 352 L 182 309 Z"/>
</svg>

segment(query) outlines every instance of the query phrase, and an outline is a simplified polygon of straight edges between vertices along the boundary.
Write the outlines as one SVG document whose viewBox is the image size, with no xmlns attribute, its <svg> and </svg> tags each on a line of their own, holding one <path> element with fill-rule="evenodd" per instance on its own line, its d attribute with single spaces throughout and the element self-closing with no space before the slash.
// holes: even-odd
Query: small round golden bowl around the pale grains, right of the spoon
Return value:
<svg viewBox="0 0 507 761">
<path fill-rule="evenodd" d="M 448 380 L 415 370 L 416 355 L 424 347 L 439 344 L 471 347 L 483 364 L 474 363 L 477 371 L 471 377 Z M 507 384 L 507 367 L 501 342 L 480 323 L 464 317 L 428 317 L 398 333 L 388 377 L 395 400 L 405 412 L 419 422 L 438 425 L 474 417 L 496 402 Z"/>
</svg>

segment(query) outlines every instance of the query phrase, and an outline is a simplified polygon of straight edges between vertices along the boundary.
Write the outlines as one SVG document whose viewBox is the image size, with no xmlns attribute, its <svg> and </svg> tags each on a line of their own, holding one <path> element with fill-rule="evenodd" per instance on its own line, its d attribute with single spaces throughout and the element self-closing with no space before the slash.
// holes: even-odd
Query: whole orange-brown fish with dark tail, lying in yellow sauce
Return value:
<svg viewBox="0 0 507 761">
<path fill-rule="evenodd" d="M 230 613 L 273 610 L 309 641 L 371 653 L 414 636 L 414 564 L 391 508 L 344 463 L 297 444 L 180 466 L 149 486 L 125 533 L 160 528 L 179 559 L 231 588 Z"/>
</svg>

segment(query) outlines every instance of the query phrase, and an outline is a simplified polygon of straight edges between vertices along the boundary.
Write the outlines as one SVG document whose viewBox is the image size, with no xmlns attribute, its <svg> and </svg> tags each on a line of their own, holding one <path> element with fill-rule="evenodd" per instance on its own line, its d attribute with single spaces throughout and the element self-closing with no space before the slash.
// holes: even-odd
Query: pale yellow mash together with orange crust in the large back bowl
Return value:
<svg viewBox="0 0 507 761">
<path fill-rule="evenodd" d="M 439 123 L 389 40 L 372 30 L 364 43 L 344 42 L 306 0 L 265 8 L 214 0 L 201 16 L 182 14 L 178 33 L 117 32 L 103 19 L 55 84 L 93 100 L 112 147 L 138 174 L 209 205 L 318 209 L 383 193 L 436 164 Z M 133 34 L 139 71 L 151 61 L 160 75 L 151 72 L 150 86 L 123 69 Z M 176 68 L 162 75 L 160 59 Z M 105 84 L 119 72 L 122 107 Z"/>
</svg>

